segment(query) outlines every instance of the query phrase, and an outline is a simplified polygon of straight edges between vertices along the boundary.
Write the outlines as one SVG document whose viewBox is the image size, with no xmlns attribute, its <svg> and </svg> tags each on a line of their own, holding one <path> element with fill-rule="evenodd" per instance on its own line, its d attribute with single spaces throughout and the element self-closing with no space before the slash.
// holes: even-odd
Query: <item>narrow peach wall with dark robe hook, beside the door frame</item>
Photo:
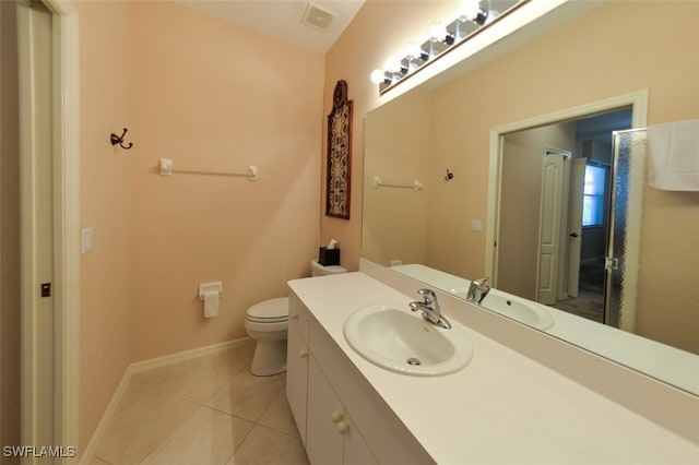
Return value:
<svg viewBox="0 0 699 465">
<path fill-rule="evenodd" d="M 128 152 L 109 134 L 132 128 L 131 8 L 76 1 L 81 63 L 81 226 L 94 250 L 81 260 L 80 449 L 130 362 L 131 193 Z"/>
</svg>

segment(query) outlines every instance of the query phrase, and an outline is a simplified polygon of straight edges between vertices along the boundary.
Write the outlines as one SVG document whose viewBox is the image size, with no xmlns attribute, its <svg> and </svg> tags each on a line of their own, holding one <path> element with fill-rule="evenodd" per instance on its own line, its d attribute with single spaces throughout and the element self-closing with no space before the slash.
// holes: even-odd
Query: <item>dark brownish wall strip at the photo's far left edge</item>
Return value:
<svg viewBox="0 0 699 465">
<path fill-rule="evenodd" d="M 14 2 L 0 2 L 0 444 L 20 444 L 20 141 Z M 4 462 L 3 462 L 4 463 Z M 8 463 L 19 463 L 19 458 Z"/>
</svg>

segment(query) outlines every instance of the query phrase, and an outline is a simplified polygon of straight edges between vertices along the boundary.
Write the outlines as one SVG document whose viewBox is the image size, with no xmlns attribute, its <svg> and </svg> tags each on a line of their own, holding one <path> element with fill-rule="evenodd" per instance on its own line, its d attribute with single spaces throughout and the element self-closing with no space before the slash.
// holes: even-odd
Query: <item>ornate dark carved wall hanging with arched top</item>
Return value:
<svg viewBox="0 0 699 465">
<path fill-rule="evenodd" d="M 332 111 L 328 115 L 328 189 L 325 215 L 350 219 L 352 174 L 352 100 L 347 83 L 337 81 Z"/>
</svg>

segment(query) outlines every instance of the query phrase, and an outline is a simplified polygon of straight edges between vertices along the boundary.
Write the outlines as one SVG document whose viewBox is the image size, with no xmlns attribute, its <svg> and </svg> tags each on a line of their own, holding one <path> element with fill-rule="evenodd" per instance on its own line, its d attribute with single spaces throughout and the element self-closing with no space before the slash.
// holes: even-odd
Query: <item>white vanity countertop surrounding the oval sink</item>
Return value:
<svg viewBox="0 0 699 465">
<path fill-rule="evenodd" d="M 364 273 L 295 279 L 289 287 L 439 464 L 699 463 L 698 444 L 462 325 L 449 311 L 474 346 L 471 362 L 455 373 L 394 373 L 348 346 L 343 324 L 352 312 L 377 303 L 410 311 L 417 295 Z"/>
</svg>

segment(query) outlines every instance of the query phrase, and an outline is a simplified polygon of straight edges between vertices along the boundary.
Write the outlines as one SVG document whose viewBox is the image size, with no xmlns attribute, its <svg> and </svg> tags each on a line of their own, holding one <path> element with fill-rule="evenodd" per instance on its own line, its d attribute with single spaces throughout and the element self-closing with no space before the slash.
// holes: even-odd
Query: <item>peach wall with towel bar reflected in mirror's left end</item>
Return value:
<svg viewBox="0 0 699 465">
<path fill-rule="evenodd" d="M 427 264 L 431 192 L 427 178 L 431 141 L 429 93 L 416 91 L 384 109 L 366 117 L 362 253 L 382 265 L 392 260 Z M 375 176 L 383 182 L 408 186 L 418 180 L 423 188 L 376 188 Z"/>
</svg>

